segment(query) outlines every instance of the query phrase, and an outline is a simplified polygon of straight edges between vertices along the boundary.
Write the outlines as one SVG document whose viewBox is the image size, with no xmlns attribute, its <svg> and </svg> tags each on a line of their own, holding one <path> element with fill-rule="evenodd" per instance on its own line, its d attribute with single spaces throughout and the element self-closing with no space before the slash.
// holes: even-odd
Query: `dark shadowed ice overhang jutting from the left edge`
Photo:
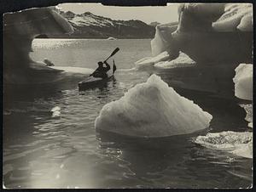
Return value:
<svg viewBox="0 0 256 192">
<path fill-rule="evenodd" d="M 4 82 L 30 83 L 60 70 L 46 67 L 29 57 L 32 40 L 38 35 L 72 33 L 73 27 L 51 8 L 30 8 L 3 16 Z M 47 74 L 44 74 L 47 71 Z"/>
</svg>

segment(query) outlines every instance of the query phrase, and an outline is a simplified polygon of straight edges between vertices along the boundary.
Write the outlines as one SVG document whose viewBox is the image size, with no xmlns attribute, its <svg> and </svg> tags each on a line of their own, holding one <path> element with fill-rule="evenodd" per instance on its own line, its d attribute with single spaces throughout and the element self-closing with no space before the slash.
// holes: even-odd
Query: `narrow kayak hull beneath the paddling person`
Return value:
<svg viewBox="0 0 256 192">
<path fill-rule="evenodd" d="M 84 79 L 84 81 L 79 82 L 79 90 L 88 88 L 98 88 L 105 85 L 105 83 L 112 79 L 113 75 L 108 76 L 106 78 L 89 76 L 88 78 Z"/>
</svg>

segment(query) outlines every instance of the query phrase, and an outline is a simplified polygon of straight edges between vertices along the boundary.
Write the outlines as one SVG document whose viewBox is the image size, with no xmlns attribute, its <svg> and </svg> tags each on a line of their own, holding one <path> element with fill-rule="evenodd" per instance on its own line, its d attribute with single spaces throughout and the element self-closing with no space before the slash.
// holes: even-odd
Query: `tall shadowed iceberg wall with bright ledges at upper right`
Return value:
<svg viewBox="0 0 256 192">
<path fill-rule="evenodd" d="M 253 4 L 183 3 L 178 23 L 157 25 L 152 54 L 179 51 L 197 63 L 252 62 Z"/>
</svg>

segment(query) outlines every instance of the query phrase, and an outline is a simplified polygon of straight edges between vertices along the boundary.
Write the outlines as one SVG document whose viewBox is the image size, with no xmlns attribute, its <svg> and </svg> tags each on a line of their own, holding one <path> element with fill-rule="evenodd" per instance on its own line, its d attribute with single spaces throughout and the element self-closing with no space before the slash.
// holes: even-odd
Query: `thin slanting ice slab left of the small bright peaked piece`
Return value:
<svg viewBox="0 0 256 192">
<path fill-rule="evenodd" d="M 161 54 L 158 54 L 155 57 L 146 57 L 138 60 L 135 65 L 137 68 L 141 68 L 142 66 L 153 66 L 155 63 L 158 63 L 162 60 L 169 59 L 169 54 L 165 51 Z"/>
</svg>

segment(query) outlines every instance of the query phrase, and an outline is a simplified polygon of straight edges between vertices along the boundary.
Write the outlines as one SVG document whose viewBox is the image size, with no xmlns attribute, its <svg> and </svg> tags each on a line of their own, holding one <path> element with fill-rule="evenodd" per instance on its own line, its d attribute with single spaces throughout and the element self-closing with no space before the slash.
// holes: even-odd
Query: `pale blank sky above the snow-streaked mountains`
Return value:
<svg viewBox="0 0 256 192">
<path fill-rule="evenodd" d="M 145 7 L 104 6 L 102 3 L 61 3 L 57 5 L 57 8 L 61 8 L 65 12 L 72 11 L 74 14 L 83 14 L 89 11 L 92 14 L 113 20 L 142 20 L 147 24 L 157 21 L 165 24 L 177 21 L 177 6 L 177 3 Z"/>
</svg>

